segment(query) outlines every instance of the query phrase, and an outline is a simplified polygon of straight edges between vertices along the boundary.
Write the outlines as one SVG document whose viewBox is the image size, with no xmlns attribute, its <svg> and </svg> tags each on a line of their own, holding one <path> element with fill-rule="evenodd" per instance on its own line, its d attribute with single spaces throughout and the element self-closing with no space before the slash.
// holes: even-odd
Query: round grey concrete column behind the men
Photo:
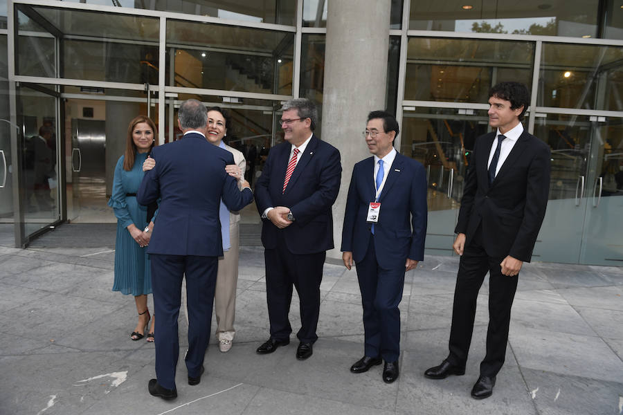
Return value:
<svg viewBox="0 0 623 415">
<path fill-rule="evenodd" d="M 333 205 L 335 249 L 341 259 L 342 224 L 352 167 L 370 156 L 361 136 L 370 111 L 385 109 L 390 0 L 331 0 L 323 88 L 322 139 L 340 150 L 342 183 Z M 372 172 L 370 172 L 372 175 Z"/>
</svg>

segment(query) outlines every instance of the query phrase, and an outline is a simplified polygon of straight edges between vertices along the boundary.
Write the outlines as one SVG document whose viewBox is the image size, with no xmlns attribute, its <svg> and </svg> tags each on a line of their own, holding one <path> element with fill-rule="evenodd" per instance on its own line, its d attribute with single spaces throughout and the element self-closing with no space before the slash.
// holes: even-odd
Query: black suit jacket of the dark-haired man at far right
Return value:
<svg viewBox="0 0 623 415">
<path fill-rule="evenodd" d="M 487 255 L 530 262 L 548 203 L 550 147 L 524 130 L 489 186 L 495 138 L 491 132 L 476 139 L 455 232 L 467 234 L 467 246 L 482 226 Z"/>
</svg>

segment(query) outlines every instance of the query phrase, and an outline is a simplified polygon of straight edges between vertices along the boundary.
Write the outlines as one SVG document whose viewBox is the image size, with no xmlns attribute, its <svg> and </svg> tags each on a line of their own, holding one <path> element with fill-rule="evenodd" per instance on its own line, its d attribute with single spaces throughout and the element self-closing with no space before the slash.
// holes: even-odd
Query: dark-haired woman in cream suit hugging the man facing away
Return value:
<svg viewBox="0 0 623 415">
<path fill-rule="evenodd" d="M 242 152 L 223 142 L 223 138 L 227 135 L 227 129 L 230 126 L 231 117 L 226 111 L 219 107 L 208 108 L 206 138 L 213 145 L 226 149 L 233 154 L 235 165 L 227 165 L 225 170 L 228 174 L 237 178 L 240 187 L 240 182 L 244 181 L 246 161 Z M 150 170 L 155 165 L 156 162 L 153 158 L 147 158 L 145 163 L 143 163 L 143 170 Z M 216 335 L 219 340 L 219 350 L 226 352 L 231 349 L 236 333 L 233 322 L 236 308 L 236 285 L 238 282 L 238 223 L 240 222 L 240 214 L 238 212 L 229 212 L 223 201 L 221 201 L 219 219 L 221 221 L 224 256 L 219 258 L 214 308 L 217 317 Z M 188 312 L 186 315 L 188 317 Z"/>
</svg>

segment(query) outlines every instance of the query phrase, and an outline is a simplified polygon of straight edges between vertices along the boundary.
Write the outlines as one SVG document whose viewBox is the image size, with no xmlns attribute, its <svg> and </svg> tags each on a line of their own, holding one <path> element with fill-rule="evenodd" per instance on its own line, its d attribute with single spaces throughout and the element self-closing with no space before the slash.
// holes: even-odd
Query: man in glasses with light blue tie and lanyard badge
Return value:
<svg viewBox="0 0 623 415">
<path fill-rule="evenodd" d="M 399 375 L 400 311 L 404 275 L 424 259 L 426 171 L 393 147 L 398 122 L 372 111 L 363 137 L 372 157 L 354 165 L 342 230 L 342 259 L 356 264 L 363 304 L 364 356 L 355 374 L 383 367 L 383 381 Z"/>
</svg>

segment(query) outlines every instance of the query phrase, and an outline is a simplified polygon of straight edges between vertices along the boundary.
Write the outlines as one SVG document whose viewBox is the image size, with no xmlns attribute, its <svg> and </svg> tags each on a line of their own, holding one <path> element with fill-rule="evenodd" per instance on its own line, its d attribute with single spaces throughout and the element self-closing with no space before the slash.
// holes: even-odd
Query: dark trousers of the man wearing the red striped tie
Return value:
<svg viewBox="0 0 623 415">
<path fill-rule="evenodd" d="M 300 330 L 296 337 L 301 342 L 313 343 L 318 339 L 316 327 L 320 314 L 320 282 L 326 252 L 296 255 L 286 246 L 281 232 L 277 248 L 264 250 L 266 262 L 266 298 L 271 338 L 286 340 L 292 333 L 288 320 L 292 286 L 300 299 Z"/>
</svg>

